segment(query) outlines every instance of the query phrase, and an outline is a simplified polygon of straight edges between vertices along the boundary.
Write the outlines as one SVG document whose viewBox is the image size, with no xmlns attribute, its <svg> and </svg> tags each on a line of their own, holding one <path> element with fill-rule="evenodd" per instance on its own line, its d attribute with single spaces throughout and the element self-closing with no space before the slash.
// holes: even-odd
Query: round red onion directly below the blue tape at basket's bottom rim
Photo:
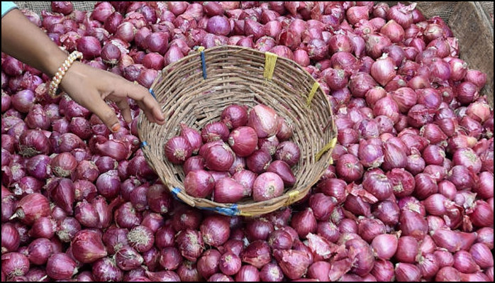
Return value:
<svg viewBox="0 0 495 283">
<path fill-rule="evenodd" d="M 204 219 L 199 228 L 204 243 L 213 247 L 226 243 L 230 235 L 228 219 L 223 216 L 209 216 Z"/>
</svg>

